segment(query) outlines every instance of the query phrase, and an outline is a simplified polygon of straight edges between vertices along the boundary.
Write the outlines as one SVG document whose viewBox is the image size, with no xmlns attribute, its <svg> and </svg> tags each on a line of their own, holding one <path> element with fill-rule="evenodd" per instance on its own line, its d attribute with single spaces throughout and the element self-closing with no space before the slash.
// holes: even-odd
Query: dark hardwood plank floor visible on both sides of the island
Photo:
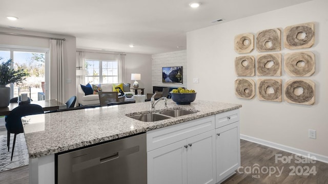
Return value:
<svg viewBox="0 0 328 184">
<path fill-rule="evenodd" d="M 224 184 L 231 183 L 328 183 L 328 164 L 295 156 L 295 154 L 240 140 L 241 167 Z M 291 156 L 290 163 L 286 156 Z M 276 157 L 281 158 L 277 159 Z M 304 164 L 295 162 L 303 161 Z M 314 162 L 314 160 L 312 160 Z M 255 173 L 256 168 L 259 172 Z M 275 169 L 274 169 L 275 168 Z M 295 168 L 295 170 L 293 170 Z M 309 168 L 309 170 L 308 170 Z M 0 172 L 0 183 L 20 184 L 29 182 L 28 166 Z M 312 169 L 312 170 L 311 170 Z M 315 170 L 314 170 L 315 169 Z M 279 170 L 279 171 L 278 171 Z M 270 174 L 271 171 L 271 174 Z M 314 175 L 314 171 L 316 172 Z M 291 175 L 295 174 L 295 175 Z"/>
</svg>

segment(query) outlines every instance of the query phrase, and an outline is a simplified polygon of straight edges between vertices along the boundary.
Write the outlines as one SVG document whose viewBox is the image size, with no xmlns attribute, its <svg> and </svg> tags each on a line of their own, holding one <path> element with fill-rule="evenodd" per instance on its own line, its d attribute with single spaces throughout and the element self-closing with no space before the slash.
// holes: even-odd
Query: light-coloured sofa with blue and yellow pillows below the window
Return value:
<svg viewBox="0 0 328 184">
<path fill-rule="evenodd" d="M 114 90 L 113 90 L 114 85 Z M 133 92 L 130 91 L 130 83 L 127 84 L 98 84 L 100 91 L 115 91 L 115 86 L 121 87 L 121 89 L 124 91 L 124 93 L 129 93 L 134 95 Z M 80 105 L 98 105 L 99 102 L 99 96 L 97 93 L 93 93 L 91 95 L 86 95 L 85 91 L 82 89 L 81 85 L 78 85 L 77 87 L 77 104 Z"/>
</svg>

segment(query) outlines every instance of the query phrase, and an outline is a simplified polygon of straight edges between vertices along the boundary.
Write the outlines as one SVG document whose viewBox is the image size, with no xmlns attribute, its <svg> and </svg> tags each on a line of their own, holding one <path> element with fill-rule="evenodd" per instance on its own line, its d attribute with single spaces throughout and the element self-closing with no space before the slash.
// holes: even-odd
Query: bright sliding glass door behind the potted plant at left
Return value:
<svg viewBox="0 0 328 184">
<path fill-rule="evenodd" d="M 13 59 L 12 68 L 23 68 L 29 76 L 21 84 L 11 84 L 11 98 L 18 96 L 18 87 L 30 88 L 33 101 L 48 99 L 48 52 L 45 50 L 0 48 L 1 61 Z"/>
</svg>

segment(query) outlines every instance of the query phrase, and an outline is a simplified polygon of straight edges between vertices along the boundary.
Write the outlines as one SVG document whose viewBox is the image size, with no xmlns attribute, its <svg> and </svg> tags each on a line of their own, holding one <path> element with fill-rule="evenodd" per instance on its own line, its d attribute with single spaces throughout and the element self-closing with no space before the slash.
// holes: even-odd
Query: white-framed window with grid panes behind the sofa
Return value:
<svg viewBox="0 0 328 184">
<path fill-rule="evenodd" d="M 86 60 L 88 74 L 86 81 L 90 84 L 118 83 L 118 63 L 108 60 Z"/>
</svg>

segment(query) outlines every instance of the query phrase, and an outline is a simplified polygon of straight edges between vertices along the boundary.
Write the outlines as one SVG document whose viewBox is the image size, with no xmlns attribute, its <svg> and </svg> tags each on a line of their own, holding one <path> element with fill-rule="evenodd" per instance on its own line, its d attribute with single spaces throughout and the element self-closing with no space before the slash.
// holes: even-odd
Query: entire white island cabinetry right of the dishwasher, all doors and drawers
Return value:
<svg viewBox="0 0 328 184">
<path fill-rule="evenodd" d="M 239 110 L 147 132 L 148 184 L 215 184 L 240 166 Z"/>
</svg>

